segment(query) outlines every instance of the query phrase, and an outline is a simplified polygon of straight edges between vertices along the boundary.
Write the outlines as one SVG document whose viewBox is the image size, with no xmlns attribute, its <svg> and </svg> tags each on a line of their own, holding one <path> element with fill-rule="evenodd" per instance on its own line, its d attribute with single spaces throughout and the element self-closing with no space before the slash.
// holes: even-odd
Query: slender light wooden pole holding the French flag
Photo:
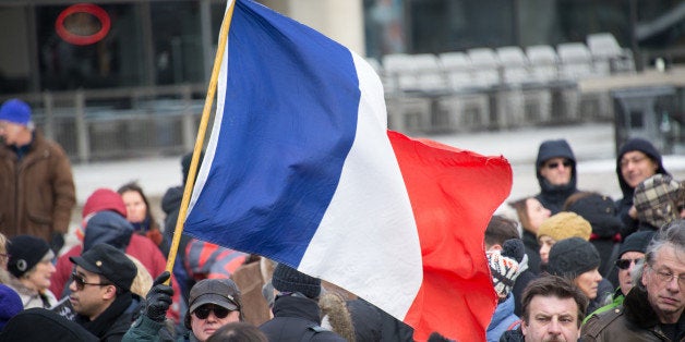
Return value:
<svg viewBox="0 0 685 342">
<path fill-rule="evenodd" d="M 176 261 L 176 255 L 178 253 L 179 244 L 181 242 L 181 233 L 183 233 L 183 223 L 185 222 L 185 215 L 188 213 L 188 205 L 190 203 L 190 195 L 193 191 L 195 183 L 195 174 L 197 173 L 197 161 L 200 160 L 200 151 L 204 145 L 204 137 L 207 132 L 207 123 L 209 122 L 209 113 L 212 111 L 212 105 L 214 96 L 216 95 L 216 84 L 219 77 L 219 70 L 221 69 L 221 61 L 224 60 L 224 51 L 226 50 L 226 42 L 228 40 L 228 29 L 230 27 L 231 19 L 233 17 L 233 7 L 236 5 L 233 0 L 224 14 L 224 22 L 221 23 L 221 29 L 219 30 L 219 46 L 214 58 L 214 68 L 212 69 L 212 78 L 209 80 L 209 87 L 207 89 L 207 97 L 205 98 L 205 107 L 202 111 L 202 119 L 200 120 L 200 127 L 197 129 L 197 137 L 195 138 L 195 148 L 193 149 L 193 158 L 190 162 L 190 169 L 188 171 L 188 179 L 185 180 L 185 187 L 183 188 L 183 198 L 181 199 L 181 208 L 179 209 L 179 217 L 176 220 L 176 230 L 173 231 L 173 240 L 171 241 L 171 247 L 169 255 L 167 256 L 167 271 L 173 273 L 173 262 Z M 158 274 L 153 274 L 157 277 Z M 167 281 L 169 283 L 169 281 Z"/>
</svg>

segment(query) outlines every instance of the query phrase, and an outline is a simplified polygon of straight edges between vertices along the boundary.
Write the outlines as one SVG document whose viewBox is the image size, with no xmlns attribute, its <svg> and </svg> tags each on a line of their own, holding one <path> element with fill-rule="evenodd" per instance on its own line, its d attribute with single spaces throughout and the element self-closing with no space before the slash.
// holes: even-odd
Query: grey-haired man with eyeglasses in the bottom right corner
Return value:
<svg viewBox="0 0 685 342">
<path fill-rule="evenodd" d="M 685 340 L 685 221 L 656 233 L 622 305 L 592 316 L 582 341 Z"/>
</svg>

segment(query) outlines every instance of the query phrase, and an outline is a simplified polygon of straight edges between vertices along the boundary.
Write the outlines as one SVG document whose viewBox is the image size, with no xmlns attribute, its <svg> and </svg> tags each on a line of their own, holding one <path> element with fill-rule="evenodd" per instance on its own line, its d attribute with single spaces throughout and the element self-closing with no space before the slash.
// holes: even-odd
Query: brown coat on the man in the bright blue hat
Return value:
<svg viewBox="0 0 685 342">
<path fill-rule="evenodd" d="M 22 148 L 23 149 L 23 148 Z M 15 147 L 0 146 L 0 232 L 27 234 L 50 243 L 69 231 L 76 203 L 71 164 L 64 150 L 35 132 L 20 160 Z"/>
</svg>

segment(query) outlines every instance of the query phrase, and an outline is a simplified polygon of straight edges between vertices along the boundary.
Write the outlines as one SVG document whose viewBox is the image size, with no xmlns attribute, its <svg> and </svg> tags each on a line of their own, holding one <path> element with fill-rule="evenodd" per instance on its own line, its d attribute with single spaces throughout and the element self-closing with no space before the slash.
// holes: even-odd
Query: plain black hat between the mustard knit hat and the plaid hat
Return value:
<svg viewBox="0 0 685 342">
<path fill-rule="evenodd" d="M 621 231 L 623 223 L 616 216 L 614 200 L 600 194 L 588 194 L 570 204 L 568 211 L 573 211 L 590 222 L 592 233 L 599 237 L 613 237 Z"/>
</svg>

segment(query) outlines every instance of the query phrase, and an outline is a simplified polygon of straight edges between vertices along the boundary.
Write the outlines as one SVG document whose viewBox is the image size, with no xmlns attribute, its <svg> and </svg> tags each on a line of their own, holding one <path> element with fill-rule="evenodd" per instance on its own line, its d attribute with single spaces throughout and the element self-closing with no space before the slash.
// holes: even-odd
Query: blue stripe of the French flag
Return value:
<svg viewBox="0 0 685 342">
<path fill-rule="evenodd" d="M 354 141 L 352 56 L 252 1 L 236 3 L 227 52 L 220 135 L 184 231 L 297 267 Z"/>
</svg>

